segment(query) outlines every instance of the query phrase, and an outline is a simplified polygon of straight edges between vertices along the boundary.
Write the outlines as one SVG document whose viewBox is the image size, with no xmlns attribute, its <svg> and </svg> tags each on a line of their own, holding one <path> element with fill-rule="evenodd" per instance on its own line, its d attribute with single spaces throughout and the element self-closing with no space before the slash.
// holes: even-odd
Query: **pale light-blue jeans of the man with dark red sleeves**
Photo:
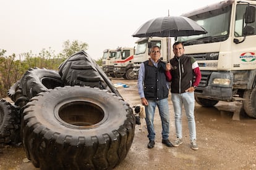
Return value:
<svg viewBox="0 0 256 170">
<path fill-rule="evenodd" d="M 194 92 L 184 92 L 182 94 L 172 93 L 171 100 L 173 101 L 176 136 L 182 138 L 182 104 L 184 105 L 187 121 L 189 124 L 189 139 L 197 139 L 197 132 L 195 131 L 195 98 Z"/>
</svg>

